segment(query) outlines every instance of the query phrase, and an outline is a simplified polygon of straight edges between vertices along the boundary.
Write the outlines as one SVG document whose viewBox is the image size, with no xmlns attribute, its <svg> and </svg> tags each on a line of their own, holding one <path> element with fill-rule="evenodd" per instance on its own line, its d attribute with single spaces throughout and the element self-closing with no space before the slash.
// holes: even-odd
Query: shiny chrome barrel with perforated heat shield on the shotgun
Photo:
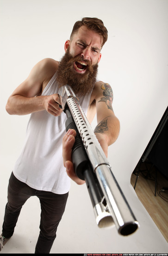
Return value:
<svg viewBox="0 0 168 256">
<path fill-rule="evenodd" d="M 68 105 L 93 173 L 98 180 L 98 188 L 100 186 L 101 193 L 103 193 L 101 199 L 99 197 L 99 202 L 97 202 L 97 197 L 94 201 L 96 203 L 93 205 L 98 226 L 103 228 L 115 224 L 120 235 L 127 236 L 134 233 L 139 227 L 139 223 L 112 173 L 111 165 L 80 106 L 79 99 L 68 85 L 60 88 L 59 95 L 62 108 L 64 109 L 66 104 Z M 76 175 L 85 180 L 80 171 Z M 88 182 L 86 181 L 86 183 Z M 93 194 L 97 193 L 89 191 L 89 194 L 92 200 L 92 197 L 95 196 Z"/>
</svg>

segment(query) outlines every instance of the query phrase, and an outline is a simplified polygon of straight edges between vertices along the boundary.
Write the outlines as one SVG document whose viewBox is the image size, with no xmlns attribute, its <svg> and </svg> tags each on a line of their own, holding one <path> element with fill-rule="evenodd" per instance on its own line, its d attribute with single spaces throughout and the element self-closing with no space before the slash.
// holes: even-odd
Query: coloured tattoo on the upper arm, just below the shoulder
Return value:
<svg viewBox="0 0 168 256">
<path fill-rule="evenodd" d="M 102 84 L 101 89 L 104 90 L 103 96 L 98 102 L 106 102 L 107 108 L 112 109 L 113 93 L 112 88 L 109 84 Z"/>
</svg>

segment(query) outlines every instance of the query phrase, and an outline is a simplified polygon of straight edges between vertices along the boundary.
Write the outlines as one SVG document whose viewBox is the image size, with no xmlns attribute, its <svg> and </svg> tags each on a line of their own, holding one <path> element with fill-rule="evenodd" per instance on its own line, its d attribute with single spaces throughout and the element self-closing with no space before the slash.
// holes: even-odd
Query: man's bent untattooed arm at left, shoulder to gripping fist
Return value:
<svg viewBox="0 0 168 256">
<path fill-rule="evenodd" d="M 38 62 L 31 70 L 28 78 L 23 81 L 9 97 L 6 111 L 10 115 L 27 115 L 33 112 L 46 110 L 52 115 L 60 115 L 60 99 L 58 94 L 41 96 L 47 83 L 55 74 L 58 62 L 44 59 Z"/>
</svg>

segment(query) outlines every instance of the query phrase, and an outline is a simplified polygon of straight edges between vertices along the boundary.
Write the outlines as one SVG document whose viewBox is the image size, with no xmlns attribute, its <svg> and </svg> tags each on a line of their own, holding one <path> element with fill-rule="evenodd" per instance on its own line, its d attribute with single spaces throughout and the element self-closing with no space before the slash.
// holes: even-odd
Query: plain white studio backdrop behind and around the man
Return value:
<svg viewBox="0 0 168 256">
<path fill-rule="evenodd" d="M 141 227 L 128 237 L 115 228 L 99 229 L 86 186 L 72 182 L 51 252 L 167 253 L 168 243 L 138 200 L 130 178 L 168 105 L 168 0 L 0 0 L 0 226 L 8 178 L 29 119 L 8 115 L 6 101 L 38 61 L 60 60 L 65 40 L 82 17 L 102 19 L 109 32 L 99 79 L 112 86 L 121 131 L 108 158 Z M 39 215 L 39 202 L 31 198 L 4 253 L 34 252 Z"/>
</svg>

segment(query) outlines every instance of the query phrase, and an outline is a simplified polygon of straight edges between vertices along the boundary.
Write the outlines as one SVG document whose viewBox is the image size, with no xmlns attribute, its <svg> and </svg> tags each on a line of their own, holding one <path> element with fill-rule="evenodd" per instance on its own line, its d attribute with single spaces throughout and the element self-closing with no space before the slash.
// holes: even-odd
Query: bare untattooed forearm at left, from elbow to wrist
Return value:
<svg viewBox="0 0 168 256">
<path fill-rule="evenodd" d="M 24 97 L 14 95 L 9 97 L 6 104 L 6 111 L 10 115 L 28 115 L 33 112 L 44 110 L 46 96 Z"/>
</svg>

